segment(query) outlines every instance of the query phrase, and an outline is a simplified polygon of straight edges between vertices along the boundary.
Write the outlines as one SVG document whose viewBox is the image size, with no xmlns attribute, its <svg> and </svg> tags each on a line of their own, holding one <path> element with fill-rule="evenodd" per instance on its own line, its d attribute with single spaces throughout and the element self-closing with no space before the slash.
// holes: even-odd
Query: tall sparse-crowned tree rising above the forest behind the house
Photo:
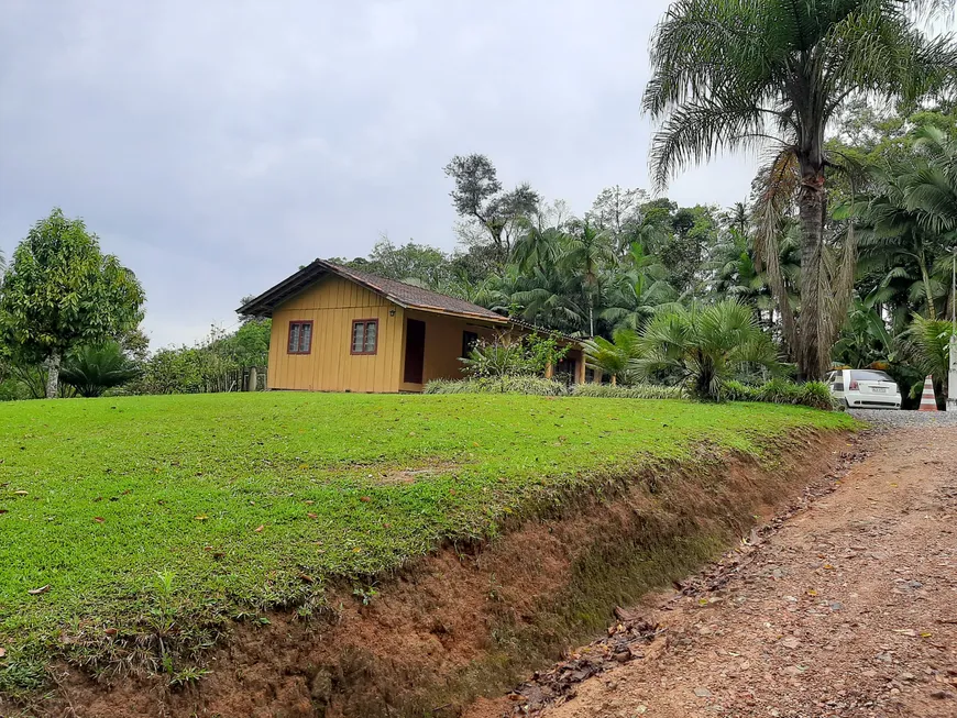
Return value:
<svg viewBox="0 0 957 718">
<path fill-rule="evenodd" d="M 521 220 L 536 213 L 541 198 L 527 183 L 504 191 L 495 166 L 485 155 L 457 155 L 446 165 L 455 183 L 450 192 L 460 217 L 477 223 L 487 235 L 499 265 L 512 253 Z"/>
</svg>

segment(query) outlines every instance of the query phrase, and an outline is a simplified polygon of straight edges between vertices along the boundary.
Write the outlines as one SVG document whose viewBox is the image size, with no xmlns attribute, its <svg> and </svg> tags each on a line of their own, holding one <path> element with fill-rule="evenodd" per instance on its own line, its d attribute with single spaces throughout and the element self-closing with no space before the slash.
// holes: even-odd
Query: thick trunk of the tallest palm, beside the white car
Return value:
<svg viewBox="0 0 957 718">
<path fill-rule="evenodd" d="M 801 218 L 801 314 L 798 320 L 795 347 L 801 379 L 822 378 L 831 365 L 831 347 L 826 345 L 827 321 L 824 283 L 824 213 L 826 195 L 824 172 L 805 169 L 798 195 Z M 824 340 L 824 341 L 822 341 Z"/>
</svg>

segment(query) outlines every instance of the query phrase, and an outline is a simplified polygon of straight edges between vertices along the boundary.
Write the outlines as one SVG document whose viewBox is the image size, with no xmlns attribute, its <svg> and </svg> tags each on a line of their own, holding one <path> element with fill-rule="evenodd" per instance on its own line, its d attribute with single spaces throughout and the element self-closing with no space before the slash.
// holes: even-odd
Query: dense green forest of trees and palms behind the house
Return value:
<svg viewBox="0 0 957 718">
<path fill-rule="evenodd" d="M 827 150 L 855 169 L 836 181 L 826 223 L 827 264 L 847 261 L 849 233 L 856 248 L 832 360 L 889 368 L 905 389 L 930 371 L 943 384 L 955 300 L 957 117 L 949 106 L 900 119 L 858 103 Z M 800 227 L 796 202 L 779 200 L 779 186 L 791 181 L 772 176 L 780 170 L 765 168 L 728 208 L 680 207 L 613 186 L 575 216 L 527 184 L 506 189 L 483 155 L 455 157 L 446 167 L 460 218 L 454 252 L 383 238 L 369 256 L 338 261 L 607 340 L 674 307 L 733 297 L 793 363 L 774 285 L 793 322 L 801 311 Z M 838 292 L 840 280 L 835 270 L 826 289 Z"/>
</svg>

